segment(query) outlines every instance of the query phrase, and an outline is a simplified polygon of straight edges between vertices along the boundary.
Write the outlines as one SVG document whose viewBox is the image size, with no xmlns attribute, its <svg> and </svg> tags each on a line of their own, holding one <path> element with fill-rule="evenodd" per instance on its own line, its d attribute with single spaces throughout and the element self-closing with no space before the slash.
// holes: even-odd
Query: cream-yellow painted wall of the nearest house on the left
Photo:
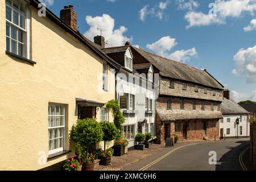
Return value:
<svg viewBox="0 0 256 182">
<path fill-rule="evenodd" d="M 115 98 L 110 67 L 109 92 L 99 93 L 103 60 L 30 8 L 31 55 L 37 64 L 6 55 L 5 39 L 0 39 L 0 170 L 41 169 L 74 155 L 38 164 L 40 151 L 48 157 L 49 102 L 67 105 L 69 131 L 77 120 L 76 97 L 104 103 Z M 0 14 L 0 36 L 5 38 L 5 1 L 0 1 Z M 66 146 L 69 150 L 68 140 Z"/>
</svg>

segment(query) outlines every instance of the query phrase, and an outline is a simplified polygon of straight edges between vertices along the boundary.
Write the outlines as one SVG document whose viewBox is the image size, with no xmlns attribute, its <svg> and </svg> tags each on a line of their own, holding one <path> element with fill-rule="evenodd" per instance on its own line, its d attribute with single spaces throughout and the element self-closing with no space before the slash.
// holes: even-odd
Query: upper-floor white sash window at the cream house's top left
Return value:
<svg viewBox="0 0 256 182">
<path fill-rule="evenodd" d="M 22 0 L 6 0 L 6 51 L 28 57 L 29 35 L 27 3 Z"/>
</svg>

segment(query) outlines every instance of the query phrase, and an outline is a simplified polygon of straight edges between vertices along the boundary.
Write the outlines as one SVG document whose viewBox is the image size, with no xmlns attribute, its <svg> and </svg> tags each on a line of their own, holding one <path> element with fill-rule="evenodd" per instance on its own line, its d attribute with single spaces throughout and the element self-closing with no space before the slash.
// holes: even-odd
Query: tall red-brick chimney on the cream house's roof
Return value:
<svg viewBox="0 0 256 182">
<path fill-rule="evenodd" d="M 77 13 L 72 5 L 64 6 L 64 9 L 60 11 L 60 19 L 77 31 Z"/>
</svg>

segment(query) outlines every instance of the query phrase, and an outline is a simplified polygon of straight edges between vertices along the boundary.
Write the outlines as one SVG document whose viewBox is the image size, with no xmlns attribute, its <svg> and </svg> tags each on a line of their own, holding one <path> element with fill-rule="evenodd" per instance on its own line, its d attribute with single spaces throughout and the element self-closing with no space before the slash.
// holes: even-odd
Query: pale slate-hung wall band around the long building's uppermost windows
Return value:
<svg viewBox="0 0 256 182">
<path fill-rule="evenodd" d="M 177 97 L 188 97 L 188 98 L 198 98 L 204 100 L 213 100 L 222 102 L 222 90 L 216 90 L 216 96 L 213 96 L 213 90 L 207 88 L 207 94 L 204 93 L 204 87 L 199 86 L 199 92 L 195 92 L 195 84 L 187 82 L 187 90 L 183 90 L 183 82 L 175 80 L 174 89 L 170 88 L 170 79 L 160 78 L 160 94 L 167 96 L 177 96 Z"/>
</svg>

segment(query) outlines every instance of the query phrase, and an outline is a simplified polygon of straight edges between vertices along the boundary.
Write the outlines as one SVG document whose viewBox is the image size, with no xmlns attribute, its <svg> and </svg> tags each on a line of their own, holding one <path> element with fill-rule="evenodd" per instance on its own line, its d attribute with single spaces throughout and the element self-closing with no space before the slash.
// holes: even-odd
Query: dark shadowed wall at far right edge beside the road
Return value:
<svg viewBox="0 0 256 182">
<path fill-rule="evenodd" d="M 256 168 L 256 122 L 250 126 L 250 139 L 250 159 L 254 168 Z"/>
</svg>

